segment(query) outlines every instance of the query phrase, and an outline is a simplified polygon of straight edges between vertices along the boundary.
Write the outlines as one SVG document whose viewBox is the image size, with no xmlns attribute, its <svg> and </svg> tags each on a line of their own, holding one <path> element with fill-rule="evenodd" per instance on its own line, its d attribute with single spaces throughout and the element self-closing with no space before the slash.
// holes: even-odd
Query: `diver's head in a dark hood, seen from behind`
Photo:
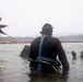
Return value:
<svg viewBox="0 0 83 82">
<path fill-rule="evenodd" d="M 52 35 L 52 26 L 49 23 L 46 23 L 43 28 L 40 34 L 45 34 L 45 35 Z"/>
</svg>

